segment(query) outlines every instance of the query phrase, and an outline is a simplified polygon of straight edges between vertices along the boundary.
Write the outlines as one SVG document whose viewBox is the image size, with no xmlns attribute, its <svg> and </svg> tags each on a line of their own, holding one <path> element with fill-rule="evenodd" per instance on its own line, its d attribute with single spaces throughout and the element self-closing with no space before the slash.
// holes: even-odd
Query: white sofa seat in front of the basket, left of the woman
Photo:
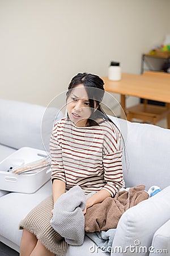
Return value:
<svg viewBox="0 0 170 256">
<path fill-rule="evenodd" d="M 52 195 L 50 180 L 35 193 L 12 192 L 0 197 L 0 205 L 3 209 L 0 211 L 1 236 L 19 246 L 22 236 L 22 230 L 19 230 L 19 222 L 49 195 Z"/>
</svg>

